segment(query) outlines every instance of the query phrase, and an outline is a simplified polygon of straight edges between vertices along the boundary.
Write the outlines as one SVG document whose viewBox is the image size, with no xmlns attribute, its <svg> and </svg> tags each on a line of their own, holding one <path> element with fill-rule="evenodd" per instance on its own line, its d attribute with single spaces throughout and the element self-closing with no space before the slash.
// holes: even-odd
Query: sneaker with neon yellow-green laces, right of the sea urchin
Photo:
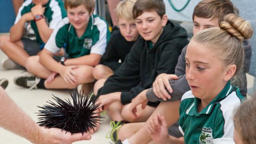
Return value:
<svg viewBox="0 0 256 144">
<path fill-rule="evenodd" d="M 117 121 L 111 121 L 110 122 L 110 126 L 112 127 L 112 129 L 109 131 L 110 132 L 110 136 L 109 135 L 109 132 L 107 133 L 106 135 L 106 138 L 111 138 L 111 140 L 113 142 L 118 142 L 118 132 L 119 132 L 119 129 L 122 127 L 122 125 L 125 124 L 125 121 L 124 120 L 121 120 L 119 122 Z"/>
</svg>

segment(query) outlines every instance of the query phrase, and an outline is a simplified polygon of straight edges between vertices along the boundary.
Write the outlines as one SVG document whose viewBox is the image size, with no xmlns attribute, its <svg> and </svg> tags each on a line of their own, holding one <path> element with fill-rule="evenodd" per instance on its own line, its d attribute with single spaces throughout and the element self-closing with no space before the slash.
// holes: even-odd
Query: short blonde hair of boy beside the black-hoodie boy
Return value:
<svg viewBox="0 0 256 144">
<path fill-rule="evenodd" d="M 132 8 L 137 0 L 123 0 L 117 4 L 115 11 L 117 12 L 117 20 L 125 18 L 129 21 L 134 21 L 132 16 Z"/>
</svg>

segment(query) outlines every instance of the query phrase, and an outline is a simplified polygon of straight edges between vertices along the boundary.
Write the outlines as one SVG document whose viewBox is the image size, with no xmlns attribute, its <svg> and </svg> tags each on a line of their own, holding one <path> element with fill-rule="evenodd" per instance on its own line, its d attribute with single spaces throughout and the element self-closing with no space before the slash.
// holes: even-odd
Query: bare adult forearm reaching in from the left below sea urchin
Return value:
<svg viewBox="0 0 256 144">
<path fill-rule="evenodd" d="M 7 96 L 1 87 L 0 98 L 0 126 L 31 142 L 38 140 L 41 137 L 41 128 Z"/>
</svg>

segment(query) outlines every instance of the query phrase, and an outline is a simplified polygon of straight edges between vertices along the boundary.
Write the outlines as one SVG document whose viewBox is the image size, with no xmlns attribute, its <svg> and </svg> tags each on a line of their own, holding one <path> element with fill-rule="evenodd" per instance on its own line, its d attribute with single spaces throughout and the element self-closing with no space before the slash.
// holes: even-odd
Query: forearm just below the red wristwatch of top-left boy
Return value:
<svg viewBox="0 0 256 144">
<path fill-rule="evenodd" d="M 48 41 L 52 34 L 52 29 L 48 27 L 48 25 L 45 22 L 45 18 L 42 18 L 41 20 L 38 20 L 35 22 L 38 28 L 39 35 L 44 43 Z"/>
</svg>

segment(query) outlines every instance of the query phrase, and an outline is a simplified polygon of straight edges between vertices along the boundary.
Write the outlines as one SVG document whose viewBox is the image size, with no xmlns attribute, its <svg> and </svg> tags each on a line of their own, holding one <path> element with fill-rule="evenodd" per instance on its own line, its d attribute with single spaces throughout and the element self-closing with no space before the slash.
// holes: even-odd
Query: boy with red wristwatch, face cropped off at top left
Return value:
<svg viewBox="0 0 256 144">
<path fill-rule="evenodd" d="M 2 60 L 2 67 L 7 70 L 25 67 L 28 57 L 41 51 L 64 17 L 67 13 L 61 0 L 26 0 L 19 9 L 10 35 L 0 37 L 0 48 L 9 57 Z M 36 41 L 23 37 L 24 27 L 29 22 Z"/>
</svg>

